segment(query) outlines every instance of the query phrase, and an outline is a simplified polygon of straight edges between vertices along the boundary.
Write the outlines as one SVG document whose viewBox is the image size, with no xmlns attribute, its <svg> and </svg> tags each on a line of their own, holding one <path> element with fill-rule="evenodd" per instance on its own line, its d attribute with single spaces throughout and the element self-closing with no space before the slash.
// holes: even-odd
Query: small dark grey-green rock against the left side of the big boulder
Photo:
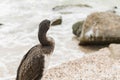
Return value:
<svg viewBox="0 0 120 80">
<path fill-rule="evenodd" d="M 79 37 L 81 34 L 83 23 L 84 21 L 79 21 L 72 26 L 73 34 L 75 34 L 77 37 Z"/>
</svg>

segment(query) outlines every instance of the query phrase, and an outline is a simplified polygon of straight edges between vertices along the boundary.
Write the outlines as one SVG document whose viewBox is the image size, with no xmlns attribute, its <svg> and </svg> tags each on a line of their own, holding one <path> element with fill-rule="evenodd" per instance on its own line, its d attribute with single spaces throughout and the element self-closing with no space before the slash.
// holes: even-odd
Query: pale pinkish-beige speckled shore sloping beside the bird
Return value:
<svg viewBox="0 0 120 80">
<path fill-rule="evenodd" d="M 47 70 L 42 80 L 120 80 L 120 60 L 111 59 L 110 54 L 108 48 L 103 48 L 63 63 Z"/>
</svg>

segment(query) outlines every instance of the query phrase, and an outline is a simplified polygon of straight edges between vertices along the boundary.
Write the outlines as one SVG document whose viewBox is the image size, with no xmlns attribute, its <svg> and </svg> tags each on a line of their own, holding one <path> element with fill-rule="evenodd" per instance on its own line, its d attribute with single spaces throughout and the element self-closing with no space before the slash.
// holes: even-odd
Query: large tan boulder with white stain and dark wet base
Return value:
<svg viewBox="0 0 120 80">
<path fill-rule="evenodd" d="M 84 22 L 80 44 L 120 43 L 120 16 L 110 12 L 95 12 Z"/>
</svg>

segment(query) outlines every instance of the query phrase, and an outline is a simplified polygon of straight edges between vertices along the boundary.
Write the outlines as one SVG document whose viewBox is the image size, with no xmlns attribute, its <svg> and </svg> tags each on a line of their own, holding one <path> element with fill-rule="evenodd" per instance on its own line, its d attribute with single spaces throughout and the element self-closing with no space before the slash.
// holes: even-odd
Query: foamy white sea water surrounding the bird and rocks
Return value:
<svg viewBox="0 0 120 80">
<path fill-rule="evenodd" d="M 87 4 L 91 7 L 75 5 Z M 55 6 L 74 5 L 53 11 Z M 117 9 L 114 9 L 117 6 Z M 62 24 L 51 26 L 48 36 L 55 39 L 55 50 L 48 68 L 81 58 L 85 54 L 72 33 L 72 25 L 95 11 L 120 14 L 119 0 L 2 0 L 0 1 L 0 80 L 14 80 L 23 56 L 38 41 L 38 25 L 44 19 L 62 17 Z M 66 13 L 66 14 L 65 14 Z"/>
</svg>

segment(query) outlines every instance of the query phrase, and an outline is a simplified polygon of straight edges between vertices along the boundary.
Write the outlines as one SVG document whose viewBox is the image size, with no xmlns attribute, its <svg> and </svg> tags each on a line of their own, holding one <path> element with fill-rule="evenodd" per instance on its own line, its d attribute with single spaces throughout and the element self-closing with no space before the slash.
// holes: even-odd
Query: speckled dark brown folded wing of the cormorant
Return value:
<svg viewBox="0 0 120 80">
<path fill-rule="evenodd" d="M 39 53 L 40 55 L 37 55 Z M 42 77 L 44 69 L 44 56 L 41 50 L 32 48 L 24 56 L 19 69 L 18 77 L 20 80 L 36 80 Z"/>
</svg>

